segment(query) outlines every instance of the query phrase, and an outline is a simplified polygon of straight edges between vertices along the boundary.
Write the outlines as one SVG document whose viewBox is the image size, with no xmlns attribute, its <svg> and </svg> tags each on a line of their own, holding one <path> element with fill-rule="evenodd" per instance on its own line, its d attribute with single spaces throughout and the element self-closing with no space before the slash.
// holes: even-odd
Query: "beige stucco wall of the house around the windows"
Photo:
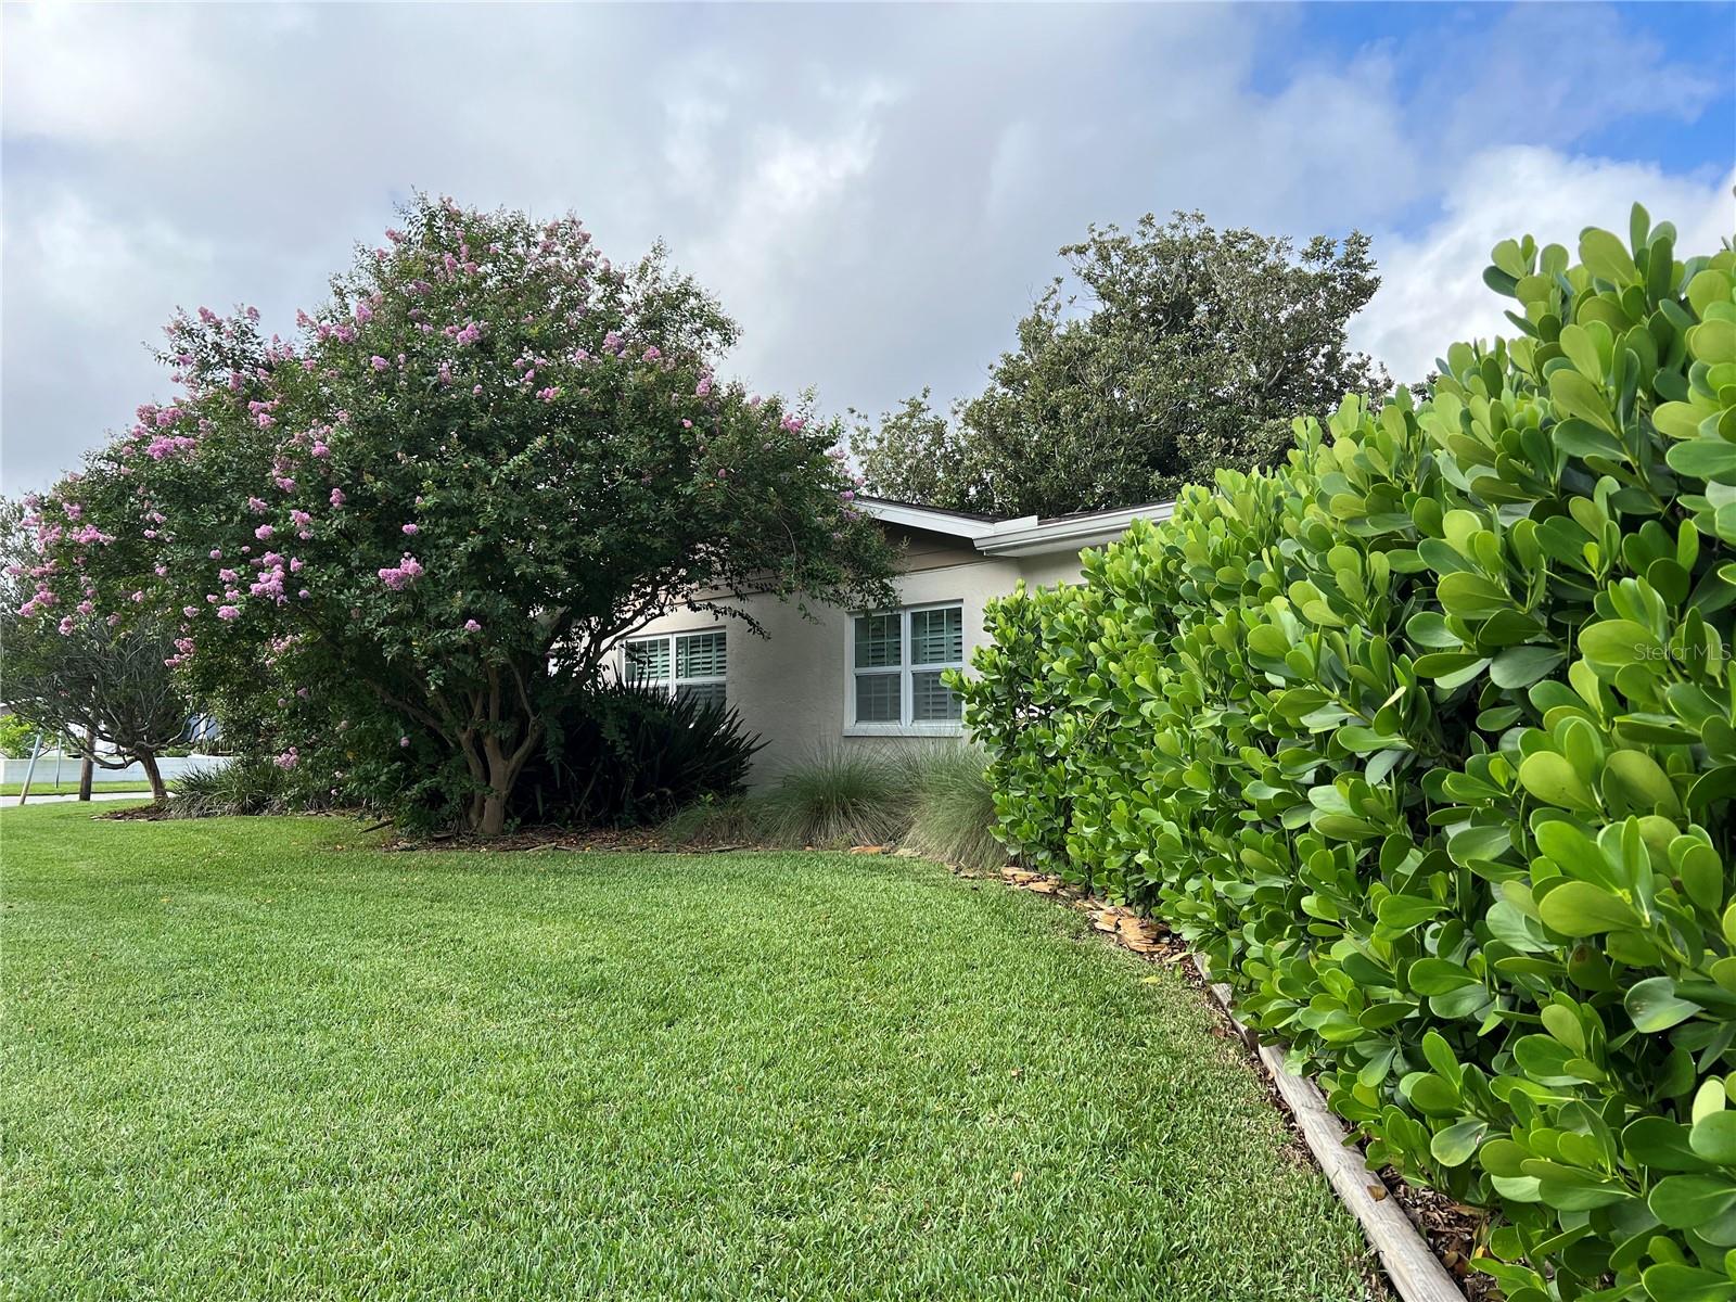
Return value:
<svg viewBox="0 0 1736 1302">
<path fill-rule="evenodd" d="M 991 597 L 1010 592 L 1021 576 L 1031 583 L 1054 583 L 1080 573 L 1073 554 L 993 559 L 920 529 L 899 531 L 894 542 L 903 543 L 901 573 L 894 580 L 899 604 L 962 602 L 967 663 L 984 641 L 983 606 Z M 828 748 L 932 745 L 932 740 L 847 736 L 845 611 L 828 609 L 804 620 L 795 606 L 773 597 L 750 597 L 743 604 L 753 611 L 767 637 L 757 637 L 740 620 L 694 611 L 674 611 L 637 635 L 727 630 L 727 700 L 743 722 L 766 740 L 753 762 L 755 785 L 776 779 L 790 766 Z"/>
</svg>

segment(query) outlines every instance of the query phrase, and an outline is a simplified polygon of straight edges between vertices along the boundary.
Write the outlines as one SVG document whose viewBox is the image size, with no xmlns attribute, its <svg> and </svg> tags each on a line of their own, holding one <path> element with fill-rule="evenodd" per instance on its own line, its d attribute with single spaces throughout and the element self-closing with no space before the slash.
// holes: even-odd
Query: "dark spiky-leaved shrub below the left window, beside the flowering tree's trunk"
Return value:
<svg viewBox="0 0 1736 1302">
<path fill-rule="evenodd" d="M 719 705 L 606 684 L 556 712 L 549 746 L 519 778 L 524 823 L 642 825 L 741 792 L 764 743 Z"/>
</svg>

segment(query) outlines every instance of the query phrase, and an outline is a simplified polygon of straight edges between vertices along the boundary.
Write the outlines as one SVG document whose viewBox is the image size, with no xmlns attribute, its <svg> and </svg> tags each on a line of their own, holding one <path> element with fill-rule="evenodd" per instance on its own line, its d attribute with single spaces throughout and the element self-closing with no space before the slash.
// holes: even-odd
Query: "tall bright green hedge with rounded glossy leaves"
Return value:
<svg viewBox="0 0 1736 1302">
<path fill-rule="evenodd" d="M 1172 922 L 1510 1302 L 1736 1299 L 1736 253 L 1635 208 L 1427 401 L 1021 590 L 1000 830 Z"/>
</svg>

